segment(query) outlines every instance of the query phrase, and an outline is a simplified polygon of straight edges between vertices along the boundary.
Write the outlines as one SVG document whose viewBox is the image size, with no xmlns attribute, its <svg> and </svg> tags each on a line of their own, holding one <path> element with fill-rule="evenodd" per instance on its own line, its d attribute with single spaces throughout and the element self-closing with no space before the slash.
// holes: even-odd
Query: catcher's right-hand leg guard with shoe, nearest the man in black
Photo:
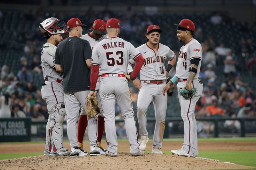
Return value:
<svg viewBox="0 0 256 170">
<path fill-rule="evenodd" d="M 51 156 L 65 156 L 69 154 L 67 148 L 63 147 L 63 122 L 66 115 L 65 106 L 63 103 L 56 104 L 51 110 L 51 139 L 52 151 Z"/>
</svg>

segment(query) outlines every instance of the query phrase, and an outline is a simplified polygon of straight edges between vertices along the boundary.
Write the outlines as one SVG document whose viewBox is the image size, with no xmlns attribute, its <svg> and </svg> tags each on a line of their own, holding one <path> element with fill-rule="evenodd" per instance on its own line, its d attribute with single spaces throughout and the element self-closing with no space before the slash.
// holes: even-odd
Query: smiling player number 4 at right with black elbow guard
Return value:
<svg viewBox="0 0 256 170">
<path fill-rule="evenodd" d="M 203 92 L 203 84 L 199 78 L 199 72 L 202 61 L 202 47 L 194 39 L 195 25 L 189 19 L 182 19 L 180 24 L 174 24 L 177 27 L 177 37 L 184 45 L 180 48 L 178 63 L 175 76 L 163 88 L 163 94 L 170 89 L 171 85 L 177 83 L 178 92 L 186 92 L 184 96 L 179 95 L 181 117 L 184 122 L 184 143 L 181 149 L 172 150 L 171 152 L 180 156 L 196 157 L 197 150 L 197 133 L 195 106 L 197 100 Z M 189 91 L 195 88 L 195 94 L 188 96 Z"/>
</svg>

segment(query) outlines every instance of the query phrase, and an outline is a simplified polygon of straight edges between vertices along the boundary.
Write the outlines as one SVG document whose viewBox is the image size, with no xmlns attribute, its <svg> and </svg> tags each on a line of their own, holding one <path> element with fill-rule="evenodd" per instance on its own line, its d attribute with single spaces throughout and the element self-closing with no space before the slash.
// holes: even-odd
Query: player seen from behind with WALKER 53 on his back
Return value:
<svg viewBox="0 0 256 170">
<path fill-rule="evenodd" d="M 107 21 L 108 37 L 96 44 L 92 51 L 91 96 L 96 96 L 95 89 L 100 75 L 99 93 L 105 120 L 105 132 L 108 149 L 105 155 L 117 156 L 117 137 L 115 126 L 115 103 L 120 108 L 125 121 L 125 129 L 133 156 L 144 155 L 139 149 L 136 123 L 133 114 L 128 79 L 134 80 L 140 72 L 143 57 L 133 45 L 121 38 L 120 21 L 110 18 Z M 131 75 L 127 75 L 128 61 L 135 60 Z"/>
</svg>

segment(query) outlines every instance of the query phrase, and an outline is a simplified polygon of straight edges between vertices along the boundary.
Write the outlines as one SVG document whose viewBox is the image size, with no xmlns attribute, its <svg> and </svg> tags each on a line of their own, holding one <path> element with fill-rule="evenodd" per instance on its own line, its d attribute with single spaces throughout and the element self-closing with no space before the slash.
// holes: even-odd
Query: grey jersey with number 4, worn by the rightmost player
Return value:
<svg viewBox="0 0 256 170">
<path fill-rule="evenodd" d="M 177 78 L 187 79 L 189 75 L 188 71 L 191 67 L 190 60 L 199 58 L 200 61 L 194 79 L 198 78 L 202 61 L 202 51 L 202 46 L 196 39 L 192 39 L 187 44 L 184 44 L 180 48 L 175 76 Z"/>
</svg>

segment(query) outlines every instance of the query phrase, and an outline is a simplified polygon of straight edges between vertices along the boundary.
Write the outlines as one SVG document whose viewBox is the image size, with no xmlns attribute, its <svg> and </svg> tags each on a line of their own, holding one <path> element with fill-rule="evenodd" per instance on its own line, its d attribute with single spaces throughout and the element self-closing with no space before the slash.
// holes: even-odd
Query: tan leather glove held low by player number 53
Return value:
<svg viewBox="0 0 256 170">
<path fill-rule="evenodd" d="M 88 95 L 87 96 L 87 116 L 92 118 L 100 113 L 100 108 L 98 107 L 98 101 L 95 97 Z"/>
</svg>

